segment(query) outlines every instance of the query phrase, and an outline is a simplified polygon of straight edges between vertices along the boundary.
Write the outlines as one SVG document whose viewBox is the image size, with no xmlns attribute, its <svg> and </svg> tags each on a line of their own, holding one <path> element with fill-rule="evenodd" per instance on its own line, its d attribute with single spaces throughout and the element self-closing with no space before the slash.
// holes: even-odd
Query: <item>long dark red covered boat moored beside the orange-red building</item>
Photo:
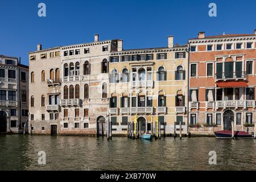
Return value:
<svg viewBox="0 0 256 182">
<path fill-rule="evenodd" d="M 232 131 L 215 131 L 216 138 L 232 138 Z M 253 138 L 253 134 L 246 133 L 245 131 L 234 131 L 234 138 Z"/>
</svg>

